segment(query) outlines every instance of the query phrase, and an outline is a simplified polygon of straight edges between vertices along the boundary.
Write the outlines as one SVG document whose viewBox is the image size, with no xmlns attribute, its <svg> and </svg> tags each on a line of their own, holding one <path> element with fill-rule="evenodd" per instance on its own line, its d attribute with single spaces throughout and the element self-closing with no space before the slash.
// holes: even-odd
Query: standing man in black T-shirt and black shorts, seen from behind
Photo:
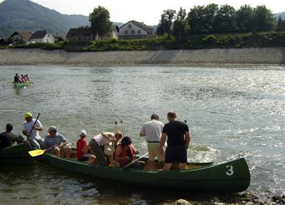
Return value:
<svg viewBox="0 0 285 205">
<path fill-rule="evenodd" d="M 187 148 L 190 143 L 190 131 L 184 122 L 176 120 L 175 112 L 167 113 L 168 123 L 165 124 L 160 138 L 160 152 L 167 139 L 165 150 L 164 171 L 170 170 L 173 162 L 179 162 L 179 169 L 185 169 L 187 163 Z"/>
</svg>

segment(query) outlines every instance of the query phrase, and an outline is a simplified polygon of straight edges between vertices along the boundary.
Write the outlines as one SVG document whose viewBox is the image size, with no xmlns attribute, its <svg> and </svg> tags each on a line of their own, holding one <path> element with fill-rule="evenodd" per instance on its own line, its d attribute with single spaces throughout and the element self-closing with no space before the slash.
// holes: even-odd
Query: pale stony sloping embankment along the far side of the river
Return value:
<svg viewBox="0 0 285 205">
<path fill-rule="evenodd" d="M 285 64 L 284 47 L 70 53 L 16 48 L 1 49 L 0 56 L 0 65 Z"/>
</svg>

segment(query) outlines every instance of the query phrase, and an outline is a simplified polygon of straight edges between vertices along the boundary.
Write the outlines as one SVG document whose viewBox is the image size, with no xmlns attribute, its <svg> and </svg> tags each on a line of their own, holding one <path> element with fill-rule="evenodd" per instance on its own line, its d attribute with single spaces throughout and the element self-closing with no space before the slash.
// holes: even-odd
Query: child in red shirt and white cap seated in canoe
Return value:
<svg viewBox="0 0 285 205">
<path fill-rule="evenodd" d="M 89 164 L 94 163 L 96 157 L 90 154 L 90 147 L 88 142 L 85 140 L 87 136 L 86 130 L 81 130 L 79 132 L 79 140 L 76 142 L 76 155 L 79 161 L 87 162 Z"/>
</svg>

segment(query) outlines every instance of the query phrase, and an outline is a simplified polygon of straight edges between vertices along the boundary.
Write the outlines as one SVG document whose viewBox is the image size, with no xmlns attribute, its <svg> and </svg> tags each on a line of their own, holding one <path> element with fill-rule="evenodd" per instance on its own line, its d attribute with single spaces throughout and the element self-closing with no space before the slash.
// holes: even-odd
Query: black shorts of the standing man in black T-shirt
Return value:
<svg viewBox="0 0 285 205">
<path fill-rule="evenodd" d="M 168 147 L 165 150 L 165 163 L 187 163 L 187 150 L 185 145 Z"/>
</svg>

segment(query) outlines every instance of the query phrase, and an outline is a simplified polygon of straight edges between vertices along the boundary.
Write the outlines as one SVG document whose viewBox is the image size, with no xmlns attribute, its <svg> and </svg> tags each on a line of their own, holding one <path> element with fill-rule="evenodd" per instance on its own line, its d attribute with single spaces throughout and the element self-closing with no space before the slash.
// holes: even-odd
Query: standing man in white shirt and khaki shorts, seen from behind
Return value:
<svg viewBox="0 0 285 205">
<path fill-rule="evenodd" d="M 146 170 L 152 169 L 155 157 L 159 162 L 165 161 L 165 154 L 160 153 L 160 137 L 162 135 L 163 123 L 159 121 L 160 117 L 156 114 L 150 116 L 150 121 L 145 122 L 140 130 L 140 137 L 147 140 L 147 151 L 149 160 L 145 165 Z"/>
</svg>

